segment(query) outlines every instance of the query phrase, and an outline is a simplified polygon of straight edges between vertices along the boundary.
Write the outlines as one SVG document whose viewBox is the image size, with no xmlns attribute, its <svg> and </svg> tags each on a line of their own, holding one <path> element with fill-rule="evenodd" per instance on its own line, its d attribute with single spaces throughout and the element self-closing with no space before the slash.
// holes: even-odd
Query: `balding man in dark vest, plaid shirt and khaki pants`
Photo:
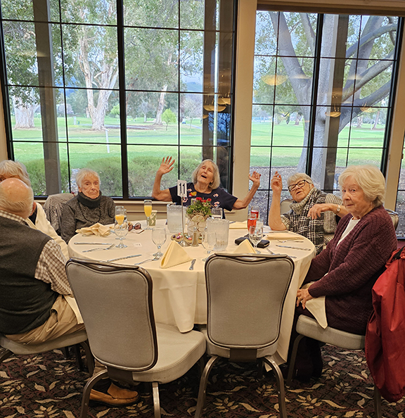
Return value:
<svg viewBox="0 0 405 418">
<path fill-rule="evenodd" d="M 25 223 L 33 201 L 32 189 L 20 179 L 0 183 L 0 332 L 28 344 L 84 329 L 75 300 L 67 298 L 72 290 L 60 246 Z M 95 373 L 101 369 L 96 362 Z M 109 379 L 100 382 L 90 395 L 98 403 L 122 406 L 139 398 Z"/>
</svg>

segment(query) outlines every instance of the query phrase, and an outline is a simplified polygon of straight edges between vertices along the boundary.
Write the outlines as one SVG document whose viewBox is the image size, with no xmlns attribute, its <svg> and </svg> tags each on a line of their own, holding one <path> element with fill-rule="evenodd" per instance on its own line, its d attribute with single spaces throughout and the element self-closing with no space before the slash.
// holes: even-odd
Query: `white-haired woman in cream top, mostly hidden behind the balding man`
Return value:
<svg viewBox="0 0 405 418">
<path fill-rule="evenodd" d="M 22 182 L 27 184 L 27 186 L 31 187 L 30 177 L 28 176 L 25 165 L 13 160 L 1 161 L 0 182 L 10 178 L 20 179 Z M 56 234 L 55 229 L 53 229 L 49 220 L 46 219 L 44 209 L 41 205 L 37 205 L 37 203 L 34 202 L 32 214 L 25 220 L 25 222 L 27 222 L 31 228 L 39 229 L 39 231 L 44 232 L 44 234 L 51 236 L 51 238 L 59 244 L 65 258 L 69 258 L 68 246 L 65 241 L 63 241 L 63 239 Z"/>
</svg>

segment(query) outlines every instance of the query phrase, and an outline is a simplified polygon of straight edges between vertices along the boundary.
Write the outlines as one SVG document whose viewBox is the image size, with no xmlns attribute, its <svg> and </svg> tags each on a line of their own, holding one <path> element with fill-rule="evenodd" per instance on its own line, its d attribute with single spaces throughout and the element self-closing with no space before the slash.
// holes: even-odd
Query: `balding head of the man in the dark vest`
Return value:
<svg viewBox="0 0 405 418">
<path fill-rule="evenodd" d="M 0 183 L 0 209 L 20 217 L 29 217 L 32 213 L 34 193 L 31 187 L 20 179 L 6 179 Z"/>
</svg>

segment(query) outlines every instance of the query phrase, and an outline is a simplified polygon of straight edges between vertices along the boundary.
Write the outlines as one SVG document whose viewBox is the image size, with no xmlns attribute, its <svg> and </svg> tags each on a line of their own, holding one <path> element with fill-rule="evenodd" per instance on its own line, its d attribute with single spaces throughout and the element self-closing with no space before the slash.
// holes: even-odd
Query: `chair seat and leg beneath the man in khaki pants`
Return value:
<svg viewBox="0 0 405 418">
<path fill-rule="evenodd" d="M 93 365 L 93 356 L 89 345 L 87 343 L 87 334 L 86 331 L 76 331 L 72 334 L 66 334 L 55 338 L 50 341 L 45 341 L 44 343 L 39 344 L 23 344 L 16 343 L 8 339 L 3 334 L 0 334 L 0 346 L 4 348 L 4 352 L 0 353 L 0 363 L 4 362 L 11 355 L 27 355 L 27 354 L 38 354 L 44 353 L 45 351 L 56 350 L 56 348 L 63 349 L 67 346 L 75 346 L 80 344 L 84 348 L 84 353 L 86 353 L 87 366 L 89 368 L 90 375 L 93 374 L 94 365 Z M 79 356 L 77 356 L 79 359 Z M 79 360 L 78 360 L 79 361 Z"/>
</svg>

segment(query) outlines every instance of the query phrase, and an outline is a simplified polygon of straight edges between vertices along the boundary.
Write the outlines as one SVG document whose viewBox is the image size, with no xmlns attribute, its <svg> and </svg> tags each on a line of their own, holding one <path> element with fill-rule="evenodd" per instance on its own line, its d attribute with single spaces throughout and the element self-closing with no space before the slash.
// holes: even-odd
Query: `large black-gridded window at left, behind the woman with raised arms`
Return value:
<svg viewBox="0 0 405 418">
<path fill-rule="evenodd" d="M 233 0 L 1 0 L 11 158 L 37 196 L 75 189 L 150 196 L 215 160 L 229 188 Z"/>
</svg>

